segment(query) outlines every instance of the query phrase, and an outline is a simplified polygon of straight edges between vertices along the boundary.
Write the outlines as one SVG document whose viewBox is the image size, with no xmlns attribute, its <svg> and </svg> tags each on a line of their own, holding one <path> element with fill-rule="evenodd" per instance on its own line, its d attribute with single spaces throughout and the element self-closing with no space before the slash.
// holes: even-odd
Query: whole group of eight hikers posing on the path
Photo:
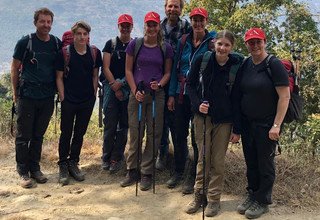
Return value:
<svg viewBox="0 0 320 220">
<path fill-rule="evenodd" d="M 91 27 L 86 22 L 76 22 L 62 42 L 49 34 L 52 11 L 35 12 L 36 32 L 17 42 L 11 68 L 17 106 L 16 162 L 23 188 L 48 180 L 39 162 L 56 90 L 61 101 L 59 183 L 69 184 L 69 176 L 85 180 L 78 163 L 100 78 L 102 169 L 116 173 L 125 160 L 122 187 L 140 181 L 140 190 L 145 191 L 154 185 L 155 168 L 166 168 L 169 132 L 174 172 L 167 187 L 179 185 L 186 172 L 191 128 L 193 158 L 183 193 L 194 193 L 194 198 L 185 212 L 202 207 L 207 217 L 215 216 L 227 147 L 241 135 L 248 185 L 237 211 L 250 219 L 268 211 L 276 145 L 290 99 L 288 73 L 275 57 L 270 62 L 271 77 L 265 73 L 268 53 L 262 29 L 246 31 L 250 57 L 244 60 L 232 51 L 232 32 L 208 32 L 204 8 L 192 9 L 190 22 L 180 18 L 183 6 L 183 0 L 165 0 L 166 17 L 161 20 L 154 11 L 146 13 L 144 36 L 134 39 L 132 16 L 120 15 L 119 35 L 106 42 L 103 56 L 90 45 Z"/>
</svg>

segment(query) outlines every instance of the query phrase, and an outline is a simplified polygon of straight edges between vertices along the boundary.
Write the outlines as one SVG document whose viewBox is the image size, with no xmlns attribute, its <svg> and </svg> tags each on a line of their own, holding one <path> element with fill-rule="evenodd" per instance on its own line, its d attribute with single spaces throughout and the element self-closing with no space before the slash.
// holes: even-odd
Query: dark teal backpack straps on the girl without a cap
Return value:
<svg viewBox="0 0 320 220">
<path fill-rule="evenodd" d="M 238 62 L 236 64 L 232 65 L 231 68 L 230 68 L 229 82 L 227 83 L 227 86 L 228 86 L 228 89 L 229 89 L 229 94 L 231 94 L 232 86 L 233 86 L 234 81 L 236 79 L 236 74 L 237 74 L 240 66 L 242 65 L 242 61 L 244 59 L 242 54 L 239 54 L 239 53 L 232 53 L 232 54 L 238 59 Z M 200 81 L 200 84 L 202 83 L 203 72 L 204 72 L 204 70 L 206 69 L 206 67 L 208 65 L 208 62 L 210 60 L 211 55 L 212 55 L 212 51 L 210 51 L 210 50 L 206 51 L 203 54 L 202 61 L 201 61 L 201 64 L 200 64 L 200 70 L 199 70 L 199 81 Z M 202 91 L 202 93 L 203 92 L 204 91 Z M 202 94 L 202 97 L 203 96 L 204 96 L 204 94 Z"/>
</svg>

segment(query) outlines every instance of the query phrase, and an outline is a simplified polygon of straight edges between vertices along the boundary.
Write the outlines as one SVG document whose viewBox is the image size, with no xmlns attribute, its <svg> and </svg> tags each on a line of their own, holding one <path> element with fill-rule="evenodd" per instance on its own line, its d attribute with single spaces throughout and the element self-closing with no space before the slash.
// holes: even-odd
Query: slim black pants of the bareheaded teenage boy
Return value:
<svg viewBox="0 0 320 220">
<path fill-rule="evenodd" d="M 95 97 L 81 104 L 71 103 L 67 100 L 61 102 L 58 164 L 68 161 L 79 162 L 83 136 L 88 128 L 94 103 Z"/>
</svg>

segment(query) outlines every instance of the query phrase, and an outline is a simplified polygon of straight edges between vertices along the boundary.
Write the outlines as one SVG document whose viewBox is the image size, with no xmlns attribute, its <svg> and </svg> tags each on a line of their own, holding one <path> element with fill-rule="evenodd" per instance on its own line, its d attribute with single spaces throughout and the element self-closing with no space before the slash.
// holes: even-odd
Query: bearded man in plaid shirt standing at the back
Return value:
<svg viewBox="0 0 320 220">
<path fill-rule="evenodd" d="M 177 50 L 178 39 L 186 33 L 190 32 L 190 23 L 185 18 L 180 18 L 184 6 L 183 0 L 165 0 L 166 17 L 161 21 L 160 26 L 164 36 L 164 40 L 172 46 L 173 53 Z M 164 87 L 165 103 L 168 101 L 169 84 Z M 174 137 L 174 112 L 169 111 L 168 106 L 164 106 L 163 113 L 163 131 L 161 143 L 159 146 L 159 155 L 156 161 L 156 168 L 164 170 L 166 168 L 167 156 L 169 152 L 169 130 L 171 136 Z M 172 138 L 174 145 L 174 138 Z"/>
</svg>

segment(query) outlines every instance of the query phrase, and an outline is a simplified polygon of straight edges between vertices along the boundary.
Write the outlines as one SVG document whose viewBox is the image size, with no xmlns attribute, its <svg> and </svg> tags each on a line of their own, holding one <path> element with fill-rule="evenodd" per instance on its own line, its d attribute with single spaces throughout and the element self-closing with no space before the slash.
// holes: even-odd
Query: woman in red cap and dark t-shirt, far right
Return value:
<svg viewBox="0 0 320 220">
<path fill-rule="evenodd" d="M 266 35 L 260 28 L 244 36 L 250 53 L 234 84 L 236 111 L 241 111 L 241 139 L 247 165 L 247 197 L 237 207 L 247 218 L 268 212 L 275 181 L 274 157 L 290 99 L 288 73 L 273 57 L 267 70 Z"/>
</svg>

